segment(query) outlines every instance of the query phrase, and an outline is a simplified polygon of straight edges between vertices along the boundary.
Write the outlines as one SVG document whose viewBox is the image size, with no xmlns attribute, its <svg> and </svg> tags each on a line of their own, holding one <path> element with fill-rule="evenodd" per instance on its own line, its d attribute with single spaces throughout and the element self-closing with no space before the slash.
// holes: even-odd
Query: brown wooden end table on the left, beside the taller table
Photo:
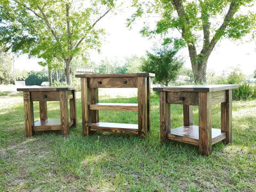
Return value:
<svg viewBox="0 0 256 192">
<path fill-rule="evenodd" d="M 68 134 L 68 127 L 76 127 L 76 88 L 43 87 L 17 88 L 23 92 L 26 136 L 33 136 L 35 131 L 61 130 Z M 70 119 L 68 120 L 68 100 L 70 101 Z M 39 101 L 40 121 L 34 123 L 33 101 Z M 47 118 L 47 101 L 60 101 L 60 119 Z"/>
</svg>

